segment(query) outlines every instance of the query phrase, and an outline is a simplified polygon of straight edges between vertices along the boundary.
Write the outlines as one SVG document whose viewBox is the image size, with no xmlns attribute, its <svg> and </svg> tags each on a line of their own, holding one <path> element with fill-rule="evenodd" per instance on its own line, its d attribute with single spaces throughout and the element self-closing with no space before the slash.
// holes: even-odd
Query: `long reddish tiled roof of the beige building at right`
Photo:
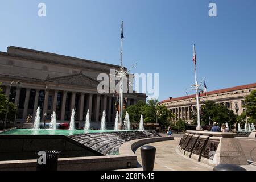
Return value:
<svg viewBox="0 0 256 182">
<path fill-rule="evenodd" d="M 241 85 L 241 86 L 234 86 L 234 87 L 231 87 L 231 88 L 213 90 L 213 91 L 207 92 L 207 96 L 213 95 L 213 94 L 243 90 L 243 89 L 250 89 L 250 88 L 255 88 L 255 87 L 256 87 L 256 83 Z M 206 96 L 206 94 L 201 93 L 200 96 Z M 172 101 L 180 101 L 180 100 L 184 100 L 184 99 L 188 99 L 188 98 L 195 98 L 195 97 L 196 97 L 196 94 L 189 95 L 189 96 L 183 96 L 183 97 L 177 97 L 177 98 L 171 98 L 171 99 L 161 101 L 160 104 L 163 104 L 163 103 L 166 103 L 166 102 L 172 102 Z"/>
</svg>

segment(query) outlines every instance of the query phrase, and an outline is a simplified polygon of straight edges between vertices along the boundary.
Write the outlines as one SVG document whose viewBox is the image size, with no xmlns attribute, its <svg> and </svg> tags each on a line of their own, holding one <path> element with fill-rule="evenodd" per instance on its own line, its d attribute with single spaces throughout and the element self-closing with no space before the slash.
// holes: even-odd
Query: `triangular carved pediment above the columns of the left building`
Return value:
<svg viewBox="0 0 256 182">
<path fill-rule="evenodd" d="M 46 82 L 52 82 L 54 84 L 63 84 L 63 85 L 74 85 L 74 86 L 84 86 L 90 88 L 97 88 L 98 81 L 84 75 L 82 72 L 79 74 L 55 77 L 55 78 L 46 78 Z"/>
</svg>

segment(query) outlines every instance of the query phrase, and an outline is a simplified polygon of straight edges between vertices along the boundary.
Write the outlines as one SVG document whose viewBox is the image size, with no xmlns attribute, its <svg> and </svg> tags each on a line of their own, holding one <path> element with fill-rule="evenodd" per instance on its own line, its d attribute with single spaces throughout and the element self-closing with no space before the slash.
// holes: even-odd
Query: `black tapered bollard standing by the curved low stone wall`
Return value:
<svg viewBox="0 0 256 182">
<path fill-rule="evenodd" d="M 142 146 L 141 147 L 141 159 L 143 171 L 153 171 L 155 163 L 155 151 L 156 148 L 153 146 Z"/>
</svg>

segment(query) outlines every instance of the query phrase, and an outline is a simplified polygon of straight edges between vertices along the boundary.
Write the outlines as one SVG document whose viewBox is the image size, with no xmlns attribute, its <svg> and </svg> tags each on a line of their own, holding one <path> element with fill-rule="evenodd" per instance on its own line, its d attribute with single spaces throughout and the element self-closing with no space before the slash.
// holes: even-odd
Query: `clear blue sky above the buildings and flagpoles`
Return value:
<svg viewBox="0 0 256 182">
<path fill-rule="evenodd" d="M 211 2 L 217 17 L 208 15 Z M 119 64 L 123 20 L 123 63 L 159 73 L 161 101 L 184 96 L 193 83 L 194 43 L 208 90 L 256 82 L 255 8 L 254 0 L 1 0 L 0 51 L 12 45 Z"/>
</svg>

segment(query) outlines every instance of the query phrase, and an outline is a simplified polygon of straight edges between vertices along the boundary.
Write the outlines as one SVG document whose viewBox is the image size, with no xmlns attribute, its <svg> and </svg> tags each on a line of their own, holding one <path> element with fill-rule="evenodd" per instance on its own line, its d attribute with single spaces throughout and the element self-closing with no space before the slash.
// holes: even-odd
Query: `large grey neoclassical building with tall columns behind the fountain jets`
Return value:
<svg viewBox="0 0 256 182">
<path fill-rule="evenodd" d="M 71 111 L 75 109 L 76 126 L 83 127 L 89 109 L 92 126 L 99 126 L 103 110 L 108 126 L 113 125 L 114 97 L 97 92 L 97 76 L 110 74 L 110 69 L 119 70 L 118 65 L 14 46 L 7 47 L 7 52 L 0 52 L 0 65 L 3 92 L 18 107 L 18 124 L 22 125 L 28 114 L 34 118 L 40 106 L 42 121 L 44 113 L 49 122 L 55 111 L 57 122 L 69 122 Z M 21 84 L 16 84 L 17 81 Z M 146 101 L 147 97 L 135 92 L 126 96 L 127 105 Z"/>
</svg>

